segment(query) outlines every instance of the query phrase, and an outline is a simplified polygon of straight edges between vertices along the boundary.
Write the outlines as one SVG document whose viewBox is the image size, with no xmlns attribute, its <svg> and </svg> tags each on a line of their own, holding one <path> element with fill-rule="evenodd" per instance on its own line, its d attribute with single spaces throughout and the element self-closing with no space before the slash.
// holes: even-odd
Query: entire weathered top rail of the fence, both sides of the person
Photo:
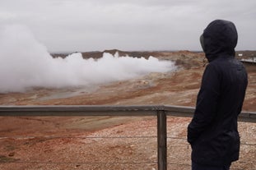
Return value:
<svg viewBox="0 0 256 170">
<path fill-rule="evenodd" d="M 24 117 L 73 117 L 73 116 L 156 116 L 165 111 L 167 116 L 193 117 L 194 108 L 174 105 L 45 105 L 45 106 L 0 106 L 0 116 Z M 256 122 L 256 112 L 240 113 L 242 122 Z"/>
</svg>

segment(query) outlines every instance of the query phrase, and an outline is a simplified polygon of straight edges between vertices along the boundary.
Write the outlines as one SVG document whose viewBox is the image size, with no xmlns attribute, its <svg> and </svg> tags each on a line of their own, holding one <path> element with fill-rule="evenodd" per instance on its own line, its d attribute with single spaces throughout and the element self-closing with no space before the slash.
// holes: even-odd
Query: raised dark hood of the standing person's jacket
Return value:
<svg viewBox="0 0 256 170">
<path fill-rule="evenodd" d="M 216 20 L 207 25 L 200 42 L 208 62 L 220 55 L 235 57 L 237 37 L 235 25 L 230 21 Z"/>
</svg>

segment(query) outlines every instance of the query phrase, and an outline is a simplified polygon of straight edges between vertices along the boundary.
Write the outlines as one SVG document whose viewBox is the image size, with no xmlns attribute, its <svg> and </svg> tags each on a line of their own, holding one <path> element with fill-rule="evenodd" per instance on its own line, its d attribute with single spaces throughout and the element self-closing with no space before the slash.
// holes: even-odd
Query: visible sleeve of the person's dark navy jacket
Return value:
<svg viewBox="0 0 256 170">
<path fill-rule="evenodd" d="M 212 63 L 208 64 L 198 93 L 197 105 L 188 126 L 188 142 L 193 144 L 202 132 L 210 126 L 216 116 L 217 100 L 220 95 L 221 78 Z"/>
</svg>

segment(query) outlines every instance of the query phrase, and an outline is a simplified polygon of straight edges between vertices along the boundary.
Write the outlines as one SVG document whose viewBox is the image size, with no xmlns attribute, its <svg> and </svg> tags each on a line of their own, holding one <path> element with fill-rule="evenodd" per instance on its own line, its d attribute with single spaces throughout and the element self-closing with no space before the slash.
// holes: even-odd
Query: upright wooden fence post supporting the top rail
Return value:
<svg viewBox="0 0 256 170">
<path fill-rule="evenodd" d="M 167 169 L 167 132 L 166 113 L 164 110 L 157 111 L 157 163 L 158 170 Z"/>
</svg>

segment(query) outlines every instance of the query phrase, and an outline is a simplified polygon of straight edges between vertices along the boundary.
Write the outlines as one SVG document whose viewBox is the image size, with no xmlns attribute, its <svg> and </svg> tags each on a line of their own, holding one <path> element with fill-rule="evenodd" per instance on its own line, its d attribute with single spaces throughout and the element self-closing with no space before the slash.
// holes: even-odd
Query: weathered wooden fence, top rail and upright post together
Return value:
<svg viewBox="0 0 256 170">
<path fill-rule="evenodd" d="M 166 116 L 192 117 L 194 108 L 151 106 L 0 106 L 0 117 L 75 117 L 75 116 L 156 116 L 157 117 L 157 166 L 167 169 Z M 243 112 L 239 120 L 256 122 L 256 113 Z"/>
</svg>

